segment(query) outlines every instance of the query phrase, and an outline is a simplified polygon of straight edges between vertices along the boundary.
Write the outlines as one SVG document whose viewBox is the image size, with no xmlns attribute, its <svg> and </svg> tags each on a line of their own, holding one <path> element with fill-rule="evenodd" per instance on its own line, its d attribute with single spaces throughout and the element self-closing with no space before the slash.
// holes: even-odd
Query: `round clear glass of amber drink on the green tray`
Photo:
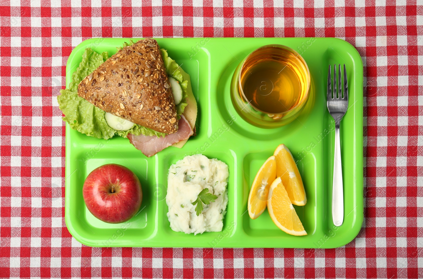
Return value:
<svg viewBox="0 0 423 279">
<path fill-rule="evenodd" d="M 310 71 L 294 49 L 272 44 L 251 52 L 231 80 L 231 99 L 238 114 L 261 128 L 293 121 L 309 97 Z"/>
</svg>

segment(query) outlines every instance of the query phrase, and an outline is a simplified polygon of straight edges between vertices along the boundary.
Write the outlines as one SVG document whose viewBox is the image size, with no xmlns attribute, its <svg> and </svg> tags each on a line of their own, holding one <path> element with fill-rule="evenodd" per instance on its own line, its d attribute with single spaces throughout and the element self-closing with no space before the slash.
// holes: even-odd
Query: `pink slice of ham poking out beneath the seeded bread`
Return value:
<svg viewBox="0 0 423 279">
<path fill-rule="evenodd" d="M 167 148 L 170 145 L 173 145 L 176 142 L 180 142 L 182 140 L 188 139 L 192 136 L 194 131 L 192 130 L 190 123 L 181 115 L 181 119 L 179 119 L 178 123 L 178 131 L 173 134 L 168 134 L 165 137 L 156 137 L 156 136 L 145 136 L 139 135 L 134 136 L 132 134 L 128 134 L 128 139 L 135 146 L 138 150 L 147 156 L 151 157 L 159 151 Z"/>
</svg>

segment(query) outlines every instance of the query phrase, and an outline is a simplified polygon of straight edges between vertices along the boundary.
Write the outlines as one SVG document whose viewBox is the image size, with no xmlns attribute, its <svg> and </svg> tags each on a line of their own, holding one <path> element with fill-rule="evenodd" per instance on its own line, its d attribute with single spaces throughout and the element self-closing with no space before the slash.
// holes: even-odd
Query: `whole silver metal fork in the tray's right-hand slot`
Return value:
<svg viewBox="0 0 423 279">
<path fill-rule="evenodd" d="M 339 123 L 348 108 L 348 83 L 344 64 L 343 96 L 341 90 L 341 64 L 338 64 L 338 90 L 336 89 L 336 64 L 333 66 L 333 97 L 330 81 L 330 65 L 327 74 L 327 109 L 335 120 L 335 159 L 333 162 L 332 220 L 335 226 L 343 223 L 343 183 Z"/>
</svg>

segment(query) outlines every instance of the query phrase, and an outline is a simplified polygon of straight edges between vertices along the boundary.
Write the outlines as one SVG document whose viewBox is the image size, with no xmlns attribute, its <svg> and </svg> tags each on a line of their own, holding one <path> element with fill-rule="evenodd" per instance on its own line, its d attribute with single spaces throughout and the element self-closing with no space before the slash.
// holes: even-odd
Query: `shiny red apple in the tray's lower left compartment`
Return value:
<svg viewBox="0 0 423 279">
<path fill-rule="evenodd" d="M 137 176 L 118 164 L 105 164 L 93 170 L 85 179 L 82 196 L 96 218 L 112 224 L 131 219 L 143 199 Z"/>
</svg>

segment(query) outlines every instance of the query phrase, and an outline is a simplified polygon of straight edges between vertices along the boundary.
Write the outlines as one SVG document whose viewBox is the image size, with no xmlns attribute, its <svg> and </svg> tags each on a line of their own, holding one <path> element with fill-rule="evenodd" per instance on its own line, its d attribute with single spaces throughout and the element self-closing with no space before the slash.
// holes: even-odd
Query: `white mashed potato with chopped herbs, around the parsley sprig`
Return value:
<svg viewBox="0 0 423 279">
<path fill-rule="evenodd" d="M 204 155 L 186 156 L 170 166 L 168 173 L 168 220 L 175 232 L 220 232 L 228 204 L 228 165 Z M 205 188 L 217 196 L 209 205 L 203 203 L 203 211 L 197 216 L 192 202 Z"/>
</svg>

